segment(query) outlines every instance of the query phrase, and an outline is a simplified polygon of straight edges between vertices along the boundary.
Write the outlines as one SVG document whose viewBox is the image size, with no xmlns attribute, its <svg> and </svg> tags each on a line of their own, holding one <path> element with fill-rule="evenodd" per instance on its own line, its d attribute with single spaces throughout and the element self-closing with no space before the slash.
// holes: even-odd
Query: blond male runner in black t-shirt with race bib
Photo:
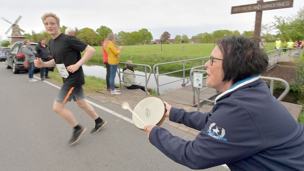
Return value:
<svg viewBox="0 0 304 171">
<path fill-rule="evenodd" d="M 59 73 L 62 75 L 63 86 L 54 100 L 53 110 L 74 127 L 73 136 L 69 141 L 69 144 L 73 144 L 81 138 L 86 127 L 80 126 L 73 113 L 65 108 L 67 101 L 72 99 L 76 101 L 77 105 L 95 120 L 95 127 L 91 131 L 92 134 L 97 133 L 107 124 L 84 99 L 82 88 L 84 75 L 81 66 L 92 58 L 95 49 L 74 36 L 61 33 L 60 20 L 55 14 L 45 13 L 41 19 L 46 31 L 52 36 L 49 40 L 49 46 L 54 59 L 43 62 L 40 58 L 36 58 L 34 64 L 39 68 L 57 66 Z M 81 58 L 80 52 L 83 50 L 85 53 Z"/>
</svg>

